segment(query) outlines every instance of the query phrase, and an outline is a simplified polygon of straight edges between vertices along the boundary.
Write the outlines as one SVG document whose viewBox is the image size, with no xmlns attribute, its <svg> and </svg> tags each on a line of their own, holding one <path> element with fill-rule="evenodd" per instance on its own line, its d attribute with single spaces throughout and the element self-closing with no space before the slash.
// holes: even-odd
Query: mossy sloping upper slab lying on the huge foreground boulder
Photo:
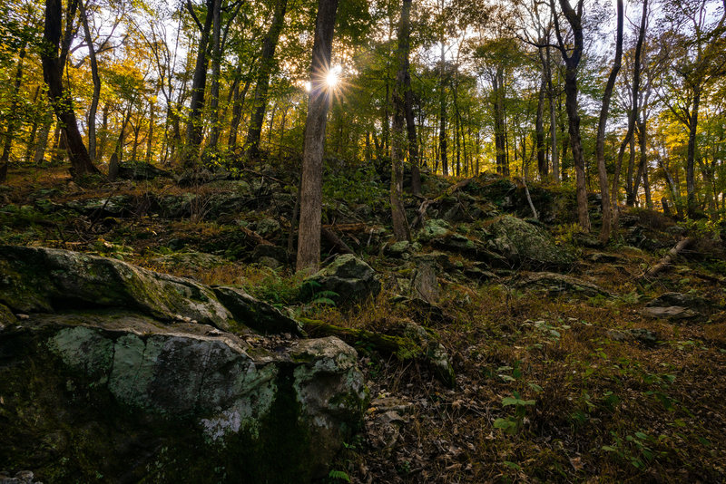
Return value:
<svg viewBox="0 0 726 484">
<path fill-rule="evenodd" d="M 0 247 L 0 302 L 24 313 L 69 306 L 135 308 L 161 320 L 188 316 L 230 329 L 234 319 L 207 286 L 123 261 L 44 247 Z"/>
</svg>

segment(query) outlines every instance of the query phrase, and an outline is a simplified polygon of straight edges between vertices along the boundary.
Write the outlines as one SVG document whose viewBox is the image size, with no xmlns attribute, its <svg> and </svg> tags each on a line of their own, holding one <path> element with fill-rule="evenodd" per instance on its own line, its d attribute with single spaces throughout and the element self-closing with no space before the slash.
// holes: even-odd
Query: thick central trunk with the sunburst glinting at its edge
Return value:
<svg viewBox="0 0 726 484">
<path fill-rule="evenodd" d="M 325 127 L 330 96 L 326 74 L 333 47 L 333 30 L 338 0 L 318 0 L 315 41 L 310 67 L 308 118 L 302 155 L 298 271 L 316 271 L 320 265 L 320 225 L 322 213 L 322 165 Z"/>
</svg>

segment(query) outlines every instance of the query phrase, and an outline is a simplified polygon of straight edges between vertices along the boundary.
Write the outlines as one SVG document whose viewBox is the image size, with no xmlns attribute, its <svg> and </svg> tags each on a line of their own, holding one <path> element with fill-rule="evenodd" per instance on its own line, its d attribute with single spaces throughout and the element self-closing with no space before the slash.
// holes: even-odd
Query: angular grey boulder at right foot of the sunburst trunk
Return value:
<svg viewBox="0 0 726 484">
<path fill-rule="evenodd" d="M 339 304 L 360 302 L 380 292 L 380 281 L 376 271 L 353 254 L 338 256 L 317 274 L 305 280 L 300 298 L 309 300 L 323 291 Z"/>
</svg>

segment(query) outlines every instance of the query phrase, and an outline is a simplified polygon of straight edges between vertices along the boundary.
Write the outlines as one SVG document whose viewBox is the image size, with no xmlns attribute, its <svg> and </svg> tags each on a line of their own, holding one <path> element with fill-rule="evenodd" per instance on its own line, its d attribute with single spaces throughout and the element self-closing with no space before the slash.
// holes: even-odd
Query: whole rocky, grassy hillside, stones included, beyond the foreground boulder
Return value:
<svg viewBox="0 0 726 484">
<path fill-rule="evenodd" d="M 726 478 L 719 227 L 623 209 L 619 233 L 602 247 L 575 225 L 574 189 L 530 186 L 534 219 L 524 186 L 509 179 L 425 173 L 421 196 L 406 196 L 412 242 L 394 244 L 385 175 L 327 160 L 321 258 L 328 268 L 310 282 L 294 274 L 289 258 L 297 193 L 289 172 L 263 166 L 179 179 L 141 164 L 123 167 L 113 183 L 76 183 L 58 169 L 16 170 L 2 193 L 0 256 L 10 257 L 13 246 L 57 248 L 191 285 L 238 288 L 280 309 L 273 319 L 291 318 L 307 336 L 290 326 L 264 336 L 197 317 L 191 324 L 200 319 L 270 351 L 299 337 L 336 336 L 354 347 L 369 400 L 320 482 Z M 590 202 L 596 226 L 599 204 Z M 672 264 L 653 273 L 684 239 Z M 40 290 L 28 283 L 13 299 L 8 274 L 0 339 L 34 321 L 18 308 Z M 57 315 L 92 306 L 81 293 L 48 297 Z M 14 374 L 8 352 L 0 353 L 0 375 Z M 38 378 L 49 392 L 65 384 Z M 14 394 L 1 381 L 0 423 L 13 437 L 0 444 L 8 475 L 29 469 L 44 482 L 124 480 L 103 463 L 106 450 L 83 455 L 93 444 L 63 417 L 45 414 L 43 398 L 31 404 L 34 391 Z M 103 427 L 131 428 L 123 418 Z M 126 437 L 104 437 L 116 438 Z M 163 461 L 153 442 L 124 451 L 139 462 Z M 144 479 L 164 480 L 175 465 L 167 460 L 168 469 Z M 208 472 L 210 481 L 225 480 L 216 468 Z"/>
</svg>

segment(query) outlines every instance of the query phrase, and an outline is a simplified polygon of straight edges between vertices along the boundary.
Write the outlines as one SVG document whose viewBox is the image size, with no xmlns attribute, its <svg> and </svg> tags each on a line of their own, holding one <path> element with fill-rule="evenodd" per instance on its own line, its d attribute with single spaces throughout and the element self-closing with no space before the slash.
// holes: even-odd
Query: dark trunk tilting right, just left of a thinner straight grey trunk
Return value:
<svg viewBox="0 0 726 484">
<path fill-rule="evenodd" d="M 197 156 L 199 155 L 203 128 L 201 111 L 204 109 L 204 90 L 207 86 L 207 44 L 209 43 L 211 23 L 214 17 L 214 5 L 218 2 L 221 2 L 221 0 L 207 0 L 207 15 L 204 19 L 204 25 L 201 27 L 201 35 L 197 47 L 197 61 L 194 65 L 194 76 L 191 80 L 187 142 L 182 156 L 182 162 L 186 168 L 196 166 Z M 187 8 L 194 15 L 194 7 L 191 6 L 190 0 L 187 0 Z"/>
</svg>

